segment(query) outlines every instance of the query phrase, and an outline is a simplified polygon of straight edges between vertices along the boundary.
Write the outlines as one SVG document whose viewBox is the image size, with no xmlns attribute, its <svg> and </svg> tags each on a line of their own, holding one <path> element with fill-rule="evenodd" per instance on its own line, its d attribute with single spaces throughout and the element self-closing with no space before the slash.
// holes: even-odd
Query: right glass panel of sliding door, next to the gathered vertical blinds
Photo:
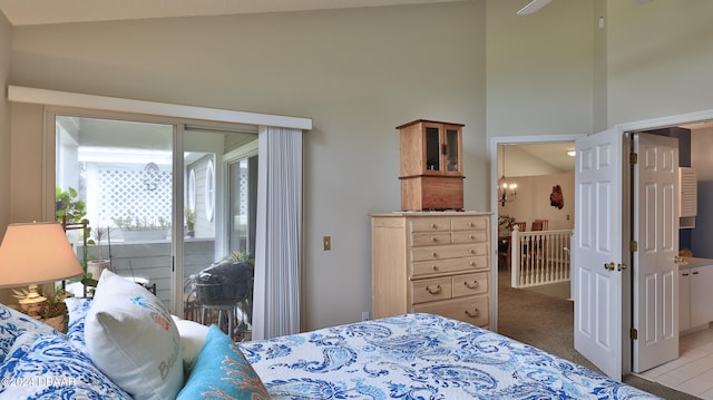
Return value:
<svg viewBox="0 0 713 400">
<path fill-rule="evenodd" d="M 256 143 L 257 135 L 251 131 L 192 127 L 183 135 L 184 318 L 217 323 L 224 331 L 232 324 L 236 339 L 250 333 L 253 271 L 238 279 L 218 266 L 250 261 L 254 254 L 251 196 L 256 195 L 257 164 L 245 148 L 256 154 Z M 238 286 L 248 286 L 251 299 L 232 290 Z"/>
</svg>

